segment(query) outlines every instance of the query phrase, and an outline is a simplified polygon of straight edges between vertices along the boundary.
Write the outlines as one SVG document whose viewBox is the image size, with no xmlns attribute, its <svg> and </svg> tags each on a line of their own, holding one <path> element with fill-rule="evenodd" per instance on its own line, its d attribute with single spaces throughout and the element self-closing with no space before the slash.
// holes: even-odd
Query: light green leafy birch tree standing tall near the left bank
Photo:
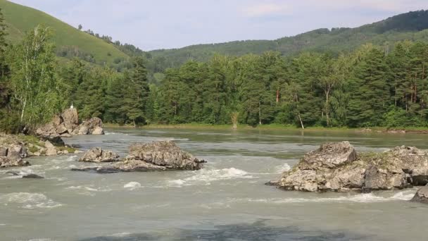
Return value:
<svg viewBox="0 0 428 241">
<path fill-rule="evenodd" d="M 61 82 L 48 27 L 37 26 L 23 42 L 11 48 L 8 63 L 13 100 L 20 112 L 20 123 L 44 123 L 62 109 Z"/>
</svg>

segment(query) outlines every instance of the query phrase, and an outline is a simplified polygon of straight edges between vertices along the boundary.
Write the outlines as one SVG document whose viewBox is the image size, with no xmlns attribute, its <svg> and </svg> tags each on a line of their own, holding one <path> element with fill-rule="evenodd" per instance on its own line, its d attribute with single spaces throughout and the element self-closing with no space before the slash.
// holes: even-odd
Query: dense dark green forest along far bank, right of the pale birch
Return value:
<svg viewBox="0 0 428 241">
<path fill-rule="evenodd" d="M 365 45 L 348 55 L 214 56 L 165 71 L 148 85 L 142 58 L 124 74 L 73 61 L 70 100 L 82 116 L 110 123 L 210 123 L 327 127 L 425 126 L 428 44 L 389 52 Z M 69 83 L 70 84 L 70 83 Z"/>
</svg>

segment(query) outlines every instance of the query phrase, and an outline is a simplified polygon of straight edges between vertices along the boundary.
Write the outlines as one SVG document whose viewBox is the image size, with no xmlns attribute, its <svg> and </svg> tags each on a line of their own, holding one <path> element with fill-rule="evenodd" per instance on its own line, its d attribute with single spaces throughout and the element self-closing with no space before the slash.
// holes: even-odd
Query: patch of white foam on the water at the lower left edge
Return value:
<svg viewBox="0 0 428 241">
<path fill-rule="evenodd" d="M 25 209 L 55 208 L 63 206 L 63 204 L 48 199 L 44 194 L 30 192 L 13 192 L 4 194 L 0 197 L 0 202 L 5 206 L 8 204 L 23 204 L 22 207 Z"/>
</svg>

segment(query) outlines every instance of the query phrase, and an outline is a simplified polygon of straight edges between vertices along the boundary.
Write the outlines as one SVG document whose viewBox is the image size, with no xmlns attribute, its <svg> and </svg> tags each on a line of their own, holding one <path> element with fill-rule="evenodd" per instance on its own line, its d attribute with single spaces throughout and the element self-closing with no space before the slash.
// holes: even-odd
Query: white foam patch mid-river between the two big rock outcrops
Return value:
<svg viewBox="0 0 428 241">
<path fill-rule="evenodd" d="M 193 172 L 189 178 L 168 180 L 169 187 L 182 187 L 194 184 L 204 183 L 210 185 L 210 182 L 218 180 L 230 180 L 236 178 L 254 178 L 251 173 L 247 173 L 237 168 L 224 168 L 224 169 L 201 169 Z"/>
</svg>

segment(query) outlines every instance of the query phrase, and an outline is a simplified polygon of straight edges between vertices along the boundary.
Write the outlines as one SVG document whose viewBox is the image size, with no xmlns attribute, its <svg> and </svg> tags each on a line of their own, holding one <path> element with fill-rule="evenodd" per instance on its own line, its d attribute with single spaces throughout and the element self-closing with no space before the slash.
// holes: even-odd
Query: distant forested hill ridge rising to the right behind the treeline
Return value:
<svg viewBox="0 0 428 241">
<path fill-rule="evenodd" d="M 428 11 L 403 13 L 361 27 L 319 29 L 276 40 L 247 40 L 221 44 L 199 44 L 182 49 L 149 51 L 151 58 L 167 67 L 180 66 L 189 59 L 206 61 L 213 54 L 239 56 L 280 51 L 285 56 L 301 51 L 352 51 L 361 44 L 372 43 L 391 47 L 401 40 L 428 40 Z"/>
</svg>

